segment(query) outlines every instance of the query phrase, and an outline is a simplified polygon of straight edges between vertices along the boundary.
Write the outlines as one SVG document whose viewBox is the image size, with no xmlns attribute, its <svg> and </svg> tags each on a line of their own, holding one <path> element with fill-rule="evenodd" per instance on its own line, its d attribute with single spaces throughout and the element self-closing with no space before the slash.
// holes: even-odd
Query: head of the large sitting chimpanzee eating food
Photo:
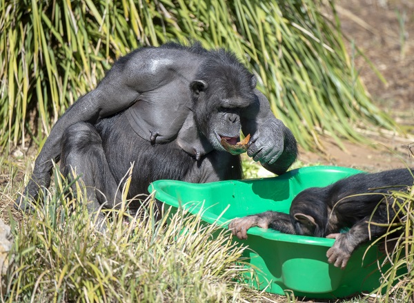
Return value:
<svg viewBox="0 0 414 303">
<path fill-rule="evenodd" d="M 257 98 L 255 87 L 255 76 L 233 54 L 211 52 L 201 64 L 190 83 L 195 124 L 215 149 L 225 150 L 221 138 L 232 145 L 239 140 L 241 118 Z"/>
</svg>

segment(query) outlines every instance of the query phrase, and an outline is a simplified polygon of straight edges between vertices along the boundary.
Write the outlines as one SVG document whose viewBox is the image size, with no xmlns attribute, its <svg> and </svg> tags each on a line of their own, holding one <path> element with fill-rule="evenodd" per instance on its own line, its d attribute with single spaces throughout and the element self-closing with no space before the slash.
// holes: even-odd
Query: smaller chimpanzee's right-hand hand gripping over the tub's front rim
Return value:
<svg viewBox="0 0 414 303">
<path fill-rule="evenodd" d="M 351 253 L 355 249 L 348 236 L 348 233 L 331 233 L 326 236 L 326 238 L 335 239 L 333 246 L 326 252 L 328 262 L 333 263 L 335 267 L 341 267 L 341 269 L 346 267 Z"/>
</svg>

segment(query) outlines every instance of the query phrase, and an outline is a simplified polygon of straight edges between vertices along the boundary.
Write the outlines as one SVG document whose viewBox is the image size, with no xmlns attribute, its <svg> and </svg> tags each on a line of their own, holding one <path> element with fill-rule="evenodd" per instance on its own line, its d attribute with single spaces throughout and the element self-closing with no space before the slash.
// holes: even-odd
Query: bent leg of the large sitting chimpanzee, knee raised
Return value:
<svg viewBox="0 0 414 303">
<path fill-rule="evenodd" d="M 114 207 L 121 201 L 117 182 L 103 152 L 101 136 L 89 123 L 76 123 L 64 132 L 61 171 L 68 178 L 79 176 L 86 188 L 88 211 Z M 99 216 L 103 218 L 103 214 Z"/>
</svg>

